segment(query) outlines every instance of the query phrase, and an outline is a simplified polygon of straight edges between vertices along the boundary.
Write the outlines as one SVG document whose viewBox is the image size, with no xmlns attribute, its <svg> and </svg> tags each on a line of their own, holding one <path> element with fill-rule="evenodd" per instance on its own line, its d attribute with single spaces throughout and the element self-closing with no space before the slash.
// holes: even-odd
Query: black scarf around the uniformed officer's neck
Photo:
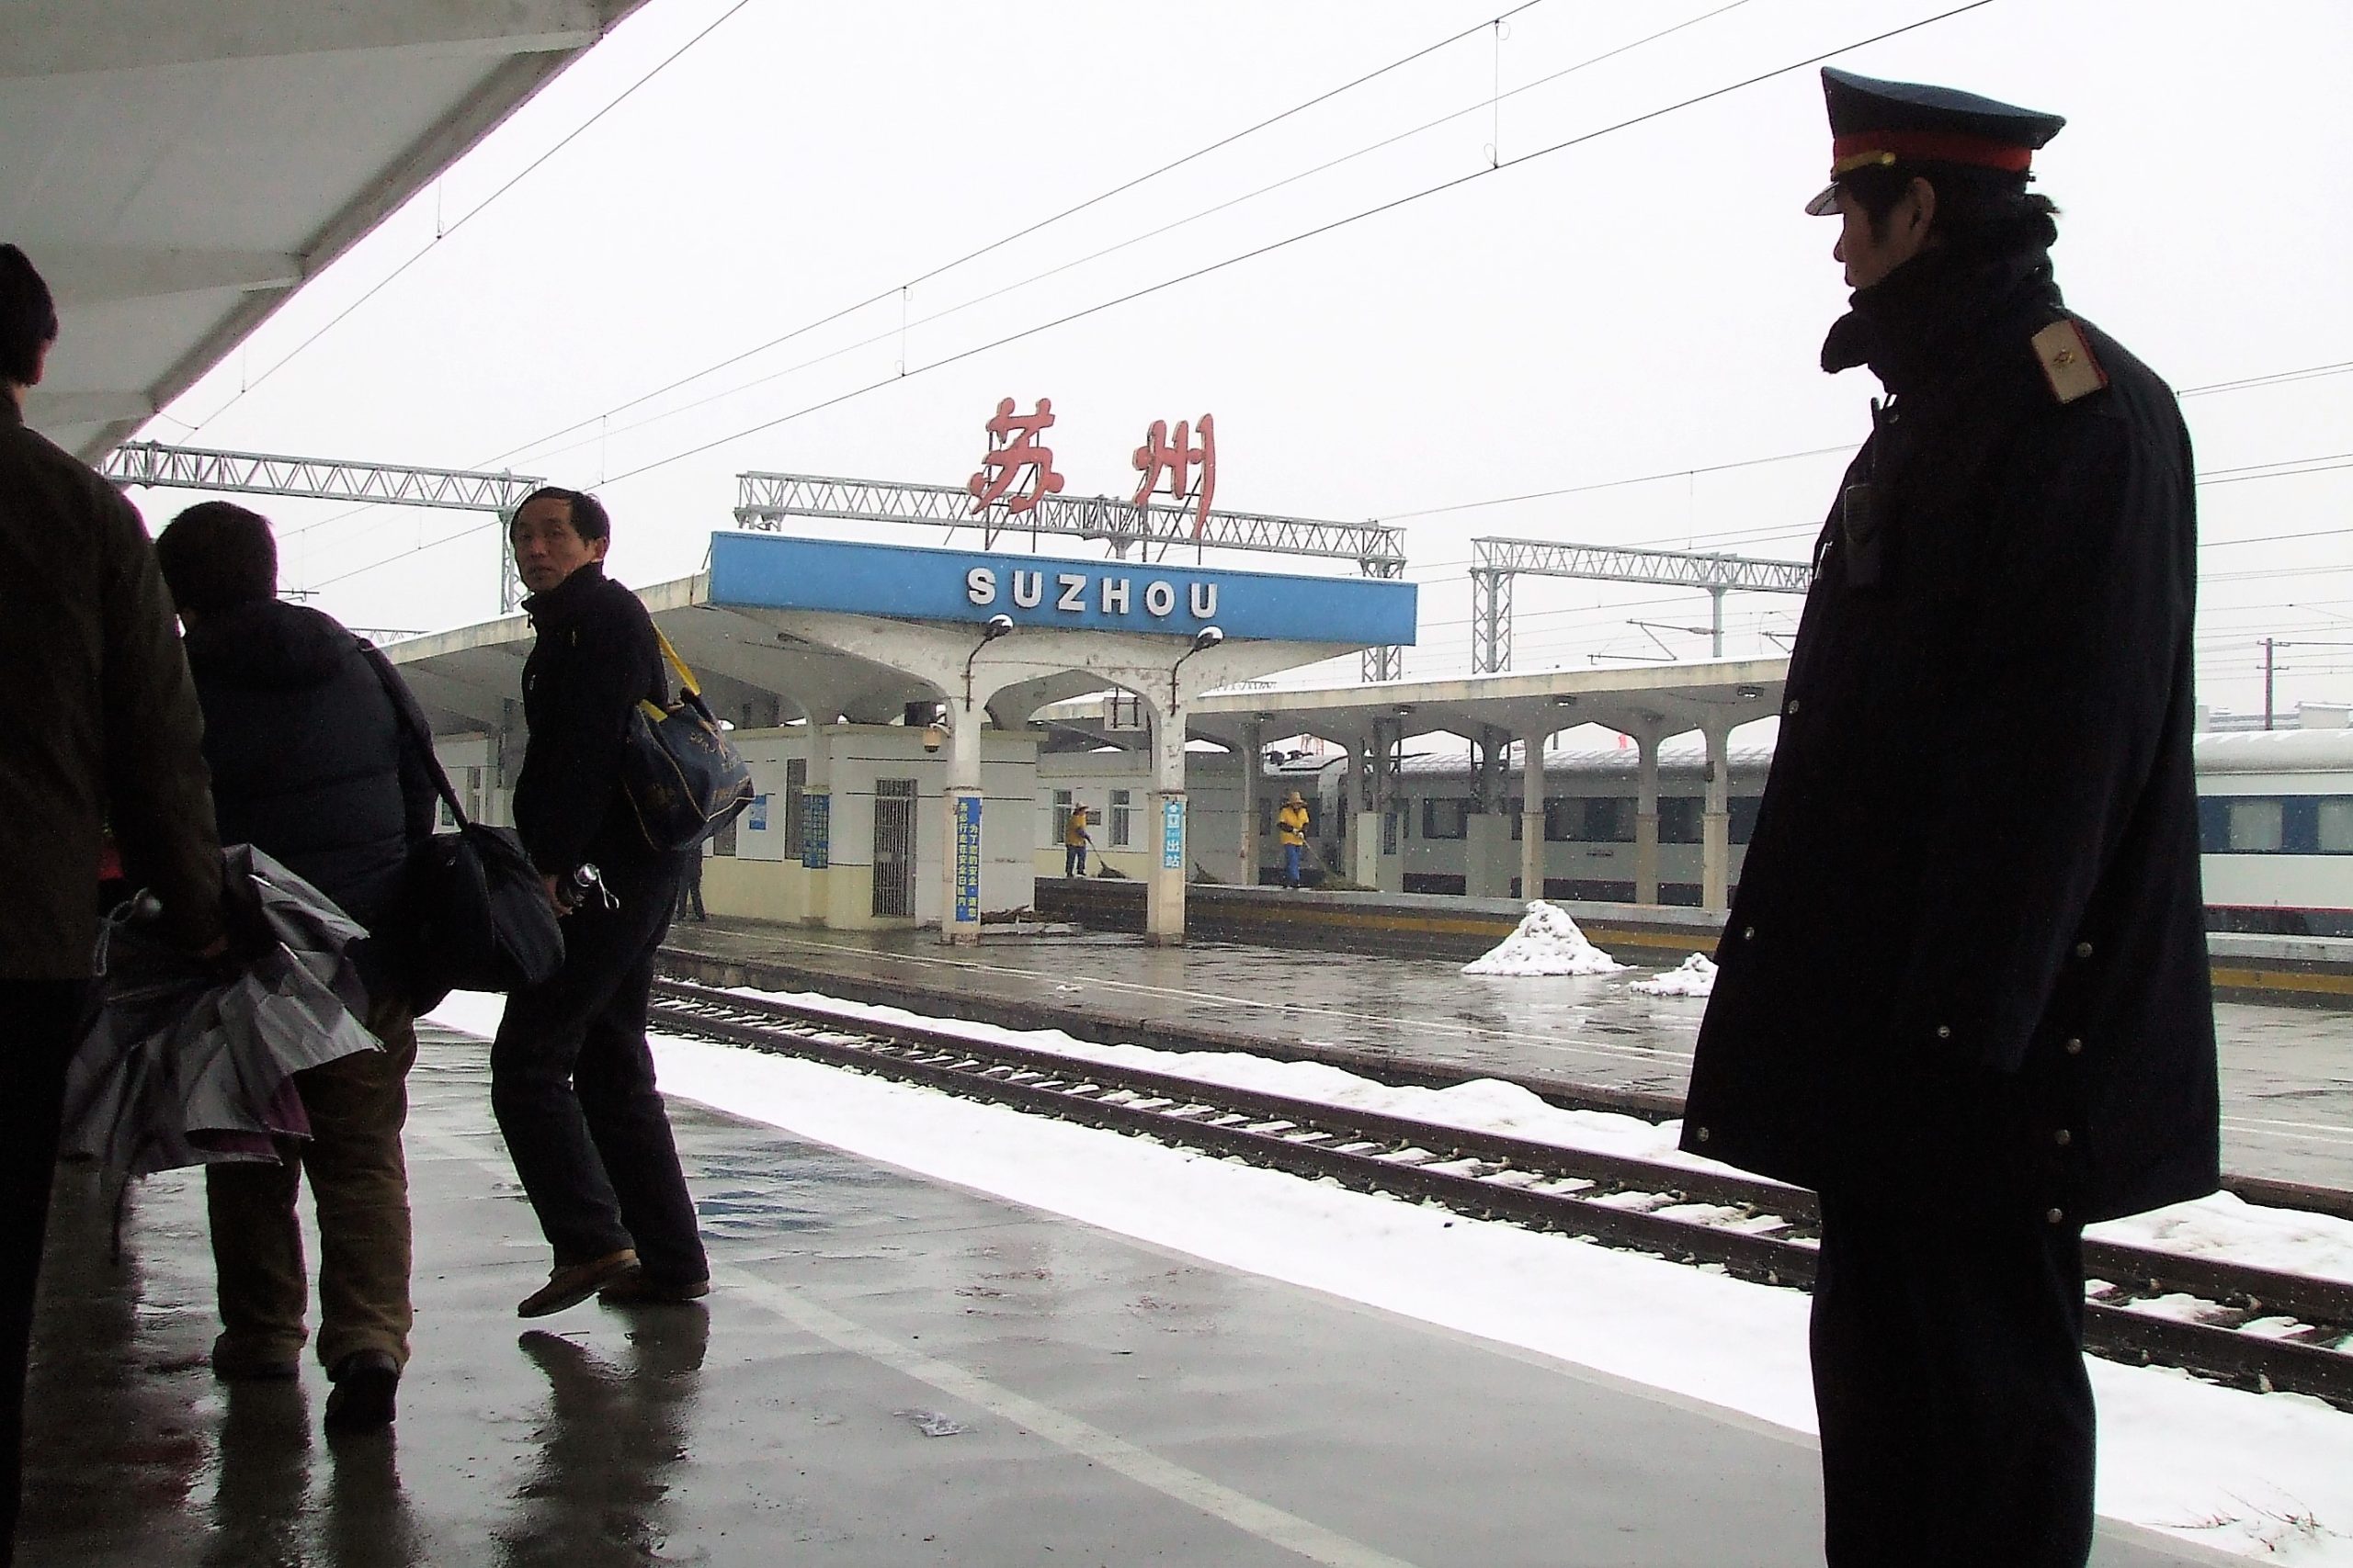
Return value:
<svg viewBox="0 0 2353 1568">
<path fill-rule="evenodd" d="M 1857 289 L 1847 306 L 1821 341 L 1821 369 L 1868 364 L 1897 397 L 1948 383 L 1988 346 L 2061 315 L 2042 247 L 1988 254 L 1939 244 Z M 2007 331 L 2012 324 L 2024 331 Z"/>
</svg>

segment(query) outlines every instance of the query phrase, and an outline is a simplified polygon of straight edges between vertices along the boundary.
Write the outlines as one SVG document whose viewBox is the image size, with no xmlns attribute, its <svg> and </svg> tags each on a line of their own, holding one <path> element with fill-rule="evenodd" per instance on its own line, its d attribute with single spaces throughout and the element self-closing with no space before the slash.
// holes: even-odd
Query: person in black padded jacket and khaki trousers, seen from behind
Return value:
<svg viewBox="0 0 2353 1568">
<path fill-rule="evenodd" d="M 412 736 L 424 719 L 358 637 L 278 599 L 271 524 L 226 501 L 191 505 L 155 541 L 205 708 L 205 762 L 221 837 L 252 844 L 372 933 L 402 896 L 409 849 L 433 832 L 433 780 Z M 409 708 L 409 729 L 393 703 Z M 280 1164 L 205 1168 L 221 1378 L 292 1378 L 311 1284 L 294 1199 L 318 1204 L 318 1359 L 334 1382 L 329 1429 L 393 1420 L 409 1359 L 409 1180 L 400 1152 L 412 1001 L 384 938 L 358 950 L 367 1030 L 384 1051 L 294 1074 L 311 1140 Z"/>
</svg>

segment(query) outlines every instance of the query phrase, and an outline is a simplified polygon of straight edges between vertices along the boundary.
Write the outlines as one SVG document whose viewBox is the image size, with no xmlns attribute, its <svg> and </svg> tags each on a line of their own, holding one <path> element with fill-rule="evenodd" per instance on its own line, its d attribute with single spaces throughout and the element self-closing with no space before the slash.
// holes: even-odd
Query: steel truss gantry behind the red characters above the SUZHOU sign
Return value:
<svg viewBox="0 0 2353 1568">
<path fill-rule="evenodd" d="M 1405 576 L 1405 529 L 1386 522 L 1318 522 L 1315 517 L 1271 517 L 1264 512 L 1221 512 L 1200 517 L 1193 505 L 1174 501 L 1120 501 L 1118 496 L 1045 494 L 1026 512 L 991 505 L 972 510 L 972 494 L 953 484 L 896 484 L 889 480 L 831 480 L 798 473 L 736 475 L 736 524 L 776 531 L 786 517 L 821 517 L 833 522 L 927 522 L 951 534 L 976 529 L 981 548 L 993 550 L 1002 534 L 1094 538 L 1127 559 L 1129 550 L 1151 559 L 1169 550 L 1261 550 L 1268 555 L 1322 555 L 1355 562 L 1362 576 Z M 1195 524 L 1200 531 L 1195 534 Z M 1365 649 L 1365 679 L 1405 675 L 1402 649 Z"/>
</svg>

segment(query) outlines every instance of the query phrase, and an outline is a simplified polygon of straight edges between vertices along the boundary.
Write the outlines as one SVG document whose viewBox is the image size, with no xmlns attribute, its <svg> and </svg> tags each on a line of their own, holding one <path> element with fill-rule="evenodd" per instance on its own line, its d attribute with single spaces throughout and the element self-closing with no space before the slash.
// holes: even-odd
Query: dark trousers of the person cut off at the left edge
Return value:
<svg viewBox="0 0 2353 1568">
<path fill-rule="evenodd" d="M 33 1295 L 40 1244 L 49 1229 L 56 1173 L 56 1119 L 66 1058 L 82 1023 L 82 980 L 0 980 L 0 1420 L 7 1472 L 0 1474 L 0 1566 L 16 1561 L 16 1502 L 24 1486 L 24 1368 L 33 1349 Z"/>
</svg>

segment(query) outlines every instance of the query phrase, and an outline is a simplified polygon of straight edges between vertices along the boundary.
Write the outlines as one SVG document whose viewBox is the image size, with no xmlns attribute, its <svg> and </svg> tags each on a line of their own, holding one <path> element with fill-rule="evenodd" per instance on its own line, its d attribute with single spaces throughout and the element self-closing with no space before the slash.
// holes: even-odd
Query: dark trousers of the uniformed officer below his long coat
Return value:
<svg viewBox="0 0 2353 1568">
<path fill-rule="evenodd" d="M 2019 1206 L 1821 1199 L 1814 1406 L 1828 1568 L 2082 1568 L 2082 1232 Z"/>
</svg>

